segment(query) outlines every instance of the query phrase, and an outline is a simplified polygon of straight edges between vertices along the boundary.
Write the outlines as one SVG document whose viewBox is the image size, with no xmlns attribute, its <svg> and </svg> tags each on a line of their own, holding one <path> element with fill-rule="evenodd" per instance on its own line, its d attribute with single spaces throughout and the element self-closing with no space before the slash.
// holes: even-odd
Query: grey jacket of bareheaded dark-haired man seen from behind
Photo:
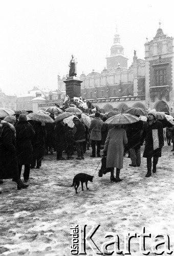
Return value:
<svg viewBox="0 0 174 256">
<path fill-rule="evenodd" d="M 103 121 L 99 117 L 95 117 L 90 124 L 91 140 L 101 140 L 101 127 Z"/>
</svg>

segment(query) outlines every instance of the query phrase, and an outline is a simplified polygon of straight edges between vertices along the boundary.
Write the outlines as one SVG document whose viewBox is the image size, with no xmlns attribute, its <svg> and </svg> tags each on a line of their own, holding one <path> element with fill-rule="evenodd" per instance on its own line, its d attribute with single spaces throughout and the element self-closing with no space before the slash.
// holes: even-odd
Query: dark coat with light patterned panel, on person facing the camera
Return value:
<svg viewBox="0 0 174 256">
<path fill-rule="evenodd" d="M 164 145 L 164 135 L 162 123 L 155 120 L 153 124 L 145 122 L 143 126 L 143 132 L 141 135 L 141 145 L 145 139 L 145 147 L 143 157 L 152 158 L 161 157 L 161 148 Z"/>
</svg>

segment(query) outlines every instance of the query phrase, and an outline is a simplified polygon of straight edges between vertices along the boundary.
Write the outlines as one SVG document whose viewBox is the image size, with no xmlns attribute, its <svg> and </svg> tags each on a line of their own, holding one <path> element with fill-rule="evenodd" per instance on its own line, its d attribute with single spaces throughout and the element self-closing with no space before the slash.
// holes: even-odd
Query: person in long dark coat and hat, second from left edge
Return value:
<svg viewBox="0 0 174 256">
<path fill-rule="evenodd" d="M 22 165 L 25 165 L 24 180 L 27 182 L 30 175 L 30 164 L 33 160 L 33 147 L 31 144 L 31 139 L 34 137 L 35 132 L 32 125 L 27 122 L 27 117 L 24 114 L 19 115 L 15 129 L 19 175 L 21 175 Z"/>
</svg>

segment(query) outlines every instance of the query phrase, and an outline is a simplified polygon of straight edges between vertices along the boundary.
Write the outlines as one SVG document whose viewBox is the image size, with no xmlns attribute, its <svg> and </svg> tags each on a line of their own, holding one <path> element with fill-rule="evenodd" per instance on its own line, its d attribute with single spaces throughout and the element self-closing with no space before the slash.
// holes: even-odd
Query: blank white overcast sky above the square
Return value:
<svg viewBox="0 0 174 256">
<path fill-rule="evenodd" d="M 116 25 L 128 57 L 144 59 L 144 43 L 159 28 L 174 36 L 173 0 L 0 0 L 0 88 L 22 94 L 34 86 L 57 89 L 57 75 L 101 72 L 110 56 Z"/>
</svg>

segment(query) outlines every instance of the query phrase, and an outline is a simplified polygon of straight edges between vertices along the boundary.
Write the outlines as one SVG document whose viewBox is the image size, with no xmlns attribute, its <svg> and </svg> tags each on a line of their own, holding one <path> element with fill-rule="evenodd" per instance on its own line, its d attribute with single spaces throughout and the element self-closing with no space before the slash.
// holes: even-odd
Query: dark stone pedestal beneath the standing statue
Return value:
<svg viewBox="0 0 174 256">
<path fill-rule="evenodd" d="M 81 82 L 79 77 L 72 76 L 68 77 L 66 80 L 63 81 L 66 84 L 66 95 L 70 97 L 71 100 L 74 99 L 74 97 L 80 97 L 81 96 Z"/>
</svg>

